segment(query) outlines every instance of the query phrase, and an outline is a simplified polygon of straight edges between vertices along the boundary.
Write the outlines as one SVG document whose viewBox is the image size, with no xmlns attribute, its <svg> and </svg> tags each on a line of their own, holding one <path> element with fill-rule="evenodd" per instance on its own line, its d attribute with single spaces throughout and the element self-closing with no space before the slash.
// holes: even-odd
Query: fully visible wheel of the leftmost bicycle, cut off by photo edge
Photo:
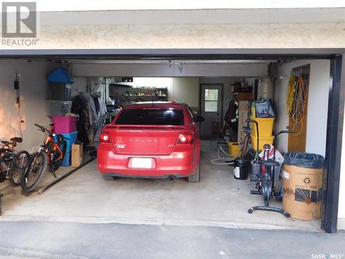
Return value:
<svg viewBox="0 0 345 259">
<path fill-rule="evenodd" d="M 11 161 L 8 177 L 12 186 L 21 185 L 21 175 L 30 161 L 30 154 L 27 151 L 19 151 Z"/>
</svg>

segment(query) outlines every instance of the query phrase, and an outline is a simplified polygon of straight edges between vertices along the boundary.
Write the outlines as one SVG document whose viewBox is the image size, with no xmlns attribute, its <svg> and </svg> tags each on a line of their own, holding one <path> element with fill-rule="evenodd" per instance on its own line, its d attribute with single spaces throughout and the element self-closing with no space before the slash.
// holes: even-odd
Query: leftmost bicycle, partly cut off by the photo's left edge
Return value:
<svg viewBox="0 0 345 259">
<path fill-rule="evenodd" d="M 21 137 L 12 137 L 10 141 L 0 141 L 0 182 L 8 178 L 12 186 L 21 185 L 21 175 L 25 171 L 30 154 L 28 151 L 14 152 L 17 143 L 23 142 Z"/>
</svg>

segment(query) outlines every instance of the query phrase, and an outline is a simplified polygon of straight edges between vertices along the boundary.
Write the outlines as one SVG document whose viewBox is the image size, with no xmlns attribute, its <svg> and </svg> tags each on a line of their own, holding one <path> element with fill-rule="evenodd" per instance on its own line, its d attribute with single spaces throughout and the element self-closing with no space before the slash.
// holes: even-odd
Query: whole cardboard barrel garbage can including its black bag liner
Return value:
<svg viewBox="0 0 345 259">
<path fill-rule="evenodd" d="M 317 220 L 321 216 L 324 157 L 286 153 L 283 169 L 283 209 L 291 218 Z"/>
</svg>

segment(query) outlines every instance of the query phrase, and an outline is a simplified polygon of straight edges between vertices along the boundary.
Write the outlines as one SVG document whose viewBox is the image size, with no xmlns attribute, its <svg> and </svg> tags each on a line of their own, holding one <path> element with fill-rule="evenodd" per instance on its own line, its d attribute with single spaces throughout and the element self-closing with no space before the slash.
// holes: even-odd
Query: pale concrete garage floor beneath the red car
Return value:
<svg viewBox="0 0 345 259">
<path fill-rule="evenodd" d="M 210 164 L 209 160 L 216 156 L 217 151 L 210 151 L 209 142 L 203 142 L 198 184 L 185 179 L 105 181 L 97 172 L 96 160 L 42 194 L 37 192 L 39 188 L 54 180 L 49 172 L 32 193 L 22 193 L 21 187 L 4 188 L 3 183 L 0 189 L 5 196 L 0 220 L 319 231 L 319 220 L 305 222 L 264 211 L 248 214 L 248 208 L 262 205 L 262 197 L 250 195 L 249 179 L 235 180 L 232 167 Z M 68 170 L 59 169 L 59 175 Z M 281 206 L 280 202 L 272 204 Z"/>
</svg>

